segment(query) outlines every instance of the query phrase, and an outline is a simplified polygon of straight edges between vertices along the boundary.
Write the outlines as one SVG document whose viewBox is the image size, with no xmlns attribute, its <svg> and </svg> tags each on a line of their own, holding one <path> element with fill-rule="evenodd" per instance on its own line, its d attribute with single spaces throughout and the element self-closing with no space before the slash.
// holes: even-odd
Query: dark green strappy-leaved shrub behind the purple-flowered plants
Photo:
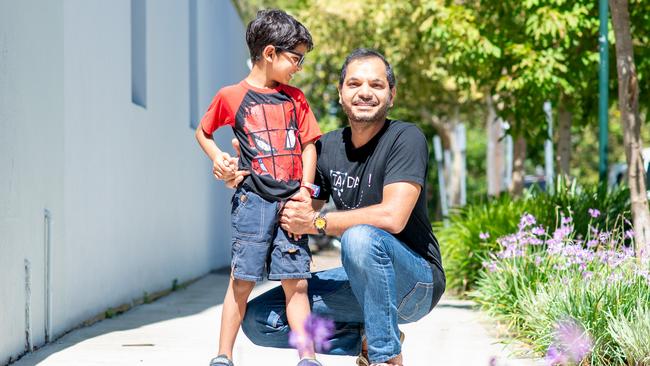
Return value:
<svg viewBox="0 0 650 366">
<path fill-rule="evenodd" d="M 629 190 L 626 188 L 608 192 L 602 186 L 580 187 L 575 181 L 567 184 L 559 178 L 554 191 L 549 194 L 533 188 L 516 199 L 503 195 L 487 203 L 453 211 L 447 226 L 434 223 L 448 291 L 464 294 L 475 288 L 482 262 L 498 249 L 496 238 L 516 231 L 519 218 L 526 212 L 545 227 L 557 226 L 562 216 L 573 216 L 575 232 L 582 237 L 588 234 L 589 222 L 609 228 L 629 212 Z M 586 215 L 590 208 L 600 210 L 602 215 L 590 218 Z M 619 222 L 618 225 L 626 224 Z M 481 233 L 489 238 L 481 239 Z"/>
</svg>

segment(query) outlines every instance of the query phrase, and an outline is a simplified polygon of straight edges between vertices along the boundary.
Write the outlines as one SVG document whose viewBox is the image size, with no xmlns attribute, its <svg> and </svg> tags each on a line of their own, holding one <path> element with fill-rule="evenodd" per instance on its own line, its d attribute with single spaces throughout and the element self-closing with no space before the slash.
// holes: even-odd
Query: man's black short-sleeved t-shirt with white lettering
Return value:
<svg viewBox="0 0 650 366">
<path fill-rule="evenodd" d="M 440 271 L 438 241 L 431 230 L 426 204 L 428 150 L 424 134 L 414 124 L 386 120 L 367 144 L 355 149 L 346 127 L 321 137 L 316 143 L 317 197 L 332 197 L 338 210 L 352 210 L 381 203 L 385 185 L 413 182 L 422 189 L 402 232 L 395 237 Z"/>
</svg>

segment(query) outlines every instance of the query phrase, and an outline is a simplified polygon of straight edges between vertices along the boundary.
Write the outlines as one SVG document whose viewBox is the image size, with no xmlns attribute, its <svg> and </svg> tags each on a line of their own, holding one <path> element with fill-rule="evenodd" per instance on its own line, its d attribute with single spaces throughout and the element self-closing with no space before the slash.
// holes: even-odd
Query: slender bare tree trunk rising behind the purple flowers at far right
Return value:
<svg viewBox="0 0 650 366">
<path fill-rule="evenodd" d="M 632 203 L 632 221 L 637 255 L 650 245 L 650 213 L 646 196 L 645 172 L 641 156 L 641 117 L 639 115 L 639 84 L 634 64 L 630 14 L 627 0 L 609 0 L 616 36 L 616 69 L 618 71 L 618 105 L 623 124 L 623 142 L 628 166 L 628 185 Z M 647 249 L 645 249 L 647 250 Z"/>
</svg>

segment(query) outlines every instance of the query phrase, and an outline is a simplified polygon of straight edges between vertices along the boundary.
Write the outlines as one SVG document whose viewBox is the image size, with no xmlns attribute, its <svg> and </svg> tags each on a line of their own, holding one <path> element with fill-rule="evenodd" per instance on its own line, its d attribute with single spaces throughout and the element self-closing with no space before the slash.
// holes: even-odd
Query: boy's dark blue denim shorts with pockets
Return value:
<svg viewBox="0 0 650 366">
<path fill-rule="evenodd" d="M 282 202 L 267 201 L 246 185 L 232 197 L 232 274 L 245 281 L 311 278 L 307 235 L 289 237 L 279 225 Z"/>
</svg>

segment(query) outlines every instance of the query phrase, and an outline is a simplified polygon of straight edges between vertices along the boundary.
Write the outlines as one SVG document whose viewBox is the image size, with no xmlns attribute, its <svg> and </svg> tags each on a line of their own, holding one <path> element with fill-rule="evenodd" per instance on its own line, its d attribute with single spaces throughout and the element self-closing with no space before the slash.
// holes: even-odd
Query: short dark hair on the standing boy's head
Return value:
<svg viewBox="0 0 650 366">
<path fill-rule="evenodd" d="M 311 51 L 311 34 L 291 15 L 279 9 L 257 12 L 257 17 L 246 27 L 246 43 L 253 63 L 260 60 L 264 47 L 273 45 L 292 50 L 304 44 Z"/>
</svg>

